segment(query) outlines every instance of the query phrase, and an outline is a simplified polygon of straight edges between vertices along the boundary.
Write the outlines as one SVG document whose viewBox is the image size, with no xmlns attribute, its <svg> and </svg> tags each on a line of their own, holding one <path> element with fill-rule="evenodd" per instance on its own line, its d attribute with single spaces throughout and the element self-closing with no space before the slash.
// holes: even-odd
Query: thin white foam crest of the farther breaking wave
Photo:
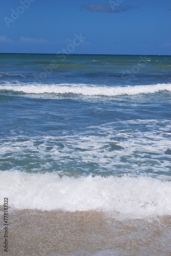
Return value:
<svg viewBox="0 0 171 256">
<path fill-rule="evenodd" d="M 0 86 L 0 90 L 22 92 L 26 94 L 81 94 L 87 96 L 117 96 L 156 93 L 159 91 L 171 92 L 171 84 L 153 84 L 144 86 L 109 87 L 93 84 L 8 84 Z"/>
</svg>

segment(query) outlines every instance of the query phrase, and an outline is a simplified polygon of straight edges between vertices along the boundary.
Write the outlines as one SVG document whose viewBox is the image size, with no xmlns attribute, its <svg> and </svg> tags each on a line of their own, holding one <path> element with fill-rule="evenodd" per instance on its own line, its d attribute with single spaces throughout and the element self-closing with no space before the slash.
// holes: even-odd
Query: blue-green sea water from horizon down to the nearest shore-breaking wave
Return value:
<svg viewBox="0 0 171 256">
<path fill-rule="evenodd" d="M 171 57 L 59 56 L 1 54 L 1 169 L 170 175 Z M 145 87 L 158 83 L 169 89 Z M 107 87 L 126 86 L 133 93 L 107 94 Z M 133 95 L 137 86 L 144 93 Z"/>
</svg>

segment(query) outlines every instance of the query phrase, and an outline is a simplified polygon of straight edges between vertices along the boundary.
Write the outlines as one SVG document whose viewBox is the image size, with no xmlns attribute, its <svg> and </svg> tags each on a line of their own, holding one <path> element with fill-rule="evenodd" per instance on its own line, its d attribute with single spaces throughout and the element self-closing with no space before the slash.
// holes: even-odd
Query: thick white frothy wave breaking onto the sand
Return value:
<svg viewBox="0 0 171 256">
<path fill-rule="evenodd" d="M 151 177 L 62 177 L 0 172 L 0 205 L 18 209 L 102 210 L 126 218 L 171 215 L 171 182 Z"/>
</svg>

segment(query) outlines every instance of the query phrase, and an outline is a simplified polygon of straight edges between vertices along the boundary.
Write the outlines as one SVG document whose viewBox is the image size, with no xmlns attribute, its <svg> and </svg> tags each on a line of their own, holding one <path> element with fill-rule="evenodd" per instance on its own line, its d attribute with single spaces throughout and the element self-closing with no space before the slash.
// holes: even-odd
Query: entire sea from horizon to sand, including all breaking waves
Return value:
<svg viewBox="0 0 171 256">
<path fill-rule="evenodd" d="M 171 56 L 0 54 L 0 205 L 171 215 Z"/>
</svg>

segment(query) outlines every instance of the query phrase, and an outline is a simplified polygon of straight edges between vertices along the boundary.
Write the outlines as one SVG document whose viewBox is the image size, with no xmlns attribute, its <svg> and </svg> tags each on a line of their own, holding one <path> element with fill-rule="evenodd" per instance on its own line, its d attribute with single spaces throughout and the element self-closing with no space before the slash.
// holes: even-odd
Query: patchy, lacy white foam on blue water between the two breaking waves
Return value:
<svg viewBox="0 0 171 256">
<path fill-rule="evenodd" d="M 27 159 L 30 159 L 27 168 L 35 168 L 35 172 L 51 167 L 67 172 L 66 166 L 69 166 L 73 172 L 80 172 L 77 168 L 81 168 L 82 172 L 89 173 L 91 163 L 98 173 L 138 170 L 153 175 L 169 174 L 170 155 L 165 152 L 171 148 L 170 130 L 170 120 L 137 119 L 89 126 L 87 131 L 68 132 L 57 137 L 1 139 L 0 169 L 11 162 L 15 169 L 25 170 Z"/>
</svg>

